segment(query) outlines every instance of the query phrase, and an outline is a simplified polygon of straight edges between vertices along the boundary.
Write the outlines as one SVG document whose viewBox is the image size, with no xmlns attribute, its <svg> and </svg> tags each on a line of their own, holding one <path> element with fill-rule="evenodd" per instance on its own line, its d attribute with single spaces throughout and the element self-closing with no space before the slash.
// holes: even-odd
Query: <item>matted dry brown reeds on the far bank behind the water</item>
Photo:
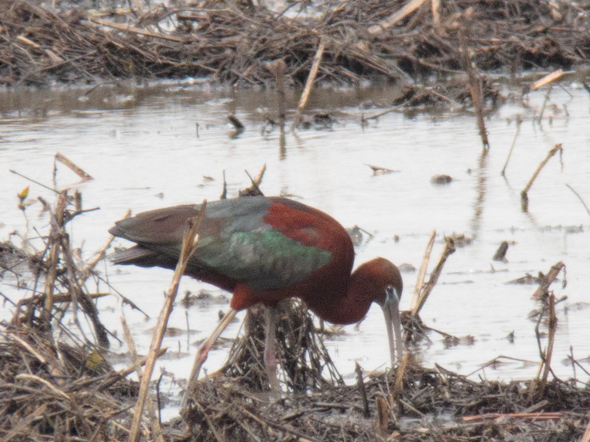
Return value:
<svg viewBox="0 0 590 442">
<path fill-rule="evenodd" d="M 272 84 L 267 62 L 283 60 L 303 84 L 323 47 L 317 78 L 356 83 L 438 78 L 464 72 L 569 69 L 590 55 L 585 2 L 355 0 L 293 2 L 271 11 L 233 2 L 87 11 L 61 3 L 0 1 L 0 81 L 151 80 L 211 75 L 232 84 Z M 295 12 L 303 12 L 295 14 Z M 307 14 L 309 12 L 309 14 Z M 464 43 L 464 47 L 462 45 Z M 434 99 L 434 96 L 432 97 Z"/>
</svg>

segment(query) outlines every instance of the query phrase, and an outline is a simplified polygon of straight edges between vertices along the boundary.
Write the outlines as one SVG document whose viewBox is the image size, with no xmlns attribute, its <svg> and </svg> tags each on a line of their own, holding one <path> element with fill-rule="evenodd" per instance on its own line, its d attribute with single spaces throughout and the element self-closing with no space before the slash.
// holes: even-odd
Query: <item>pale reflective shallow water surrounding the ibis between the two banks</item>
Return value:
<svg viewBox="0 0 590 442">
<path fill-rule="evenodd" d="M 94 177 L 77 184 L 77 177 L 58 166 L 58 186 L 73 186 L 83 193 L 84 206 L 100 207 L 71 224 L 70 233 L 89 258 L 109 238 L 107 229 L 128 208 L 133 212 L 173 204 L 218 199 L 222 173 L 230 196 L 247 187 L 248 170 L 255 175 L 267 165 L 262 189 L 267 195 L 290 194 L 319 207 L 345 226 L 358 225 L 371 232 L 356 248 L 356 262 L 385 256 L 396 263 L 419 267 L 428 236 L 437 231 L 433 256 L 438 258 L 444 235 L 464 234 L 469 245 L 448 259 L 438 285 L 422 310 L 427 325 L 464 337 L 458 345 L 445 345 L 440 335 L 414 349 L 423 364 L 438 363 L 461 374 L 476 372 L 499 355 L 537 362 L 539 349 L 535 321 L 529 319 L 539 305 L 530 299 L 533 285 L 507 284 L 530 273 L 548 272 L 559 261 L 567 266 L 552 289 L 558 297 L 559 328 L 553 352 L 553 370 L 573 376 L 567 355 L 590 355 L 590 216 L 565 186 L 571 185 L 590 203 L 589 97 L 575 85 L 553 88 L 543 108 L 546 91 L 509 100 L 486 121 L 490 154 L 481 156 L 481 141 L 474 118 L 460 111 L 448 114 L 404 115 L 399 112 L 360 125 L 362 115 L 387 108 L 392 91 L 318 90 L 310 108 L 329 112 L 337 122 L 331 128 L 287 133 L 281 148 L 277 130 L 261 133 L 266 116 L 276 115 L 272 93 L 232 93 L 202 85 L 160 85 L 145 88 L 2 92 L 0 99 L 0 238 L 25 230 L 15 194 L 30 185 L 32 196 L 53 200 L 51 192 L 9 172 L 9 169 L 51 186 L 53 156 L 60 151 Z M 507 93 L 507 95 L 512 96 Z M 518 96 L 518 95 L 514 95 Z M 296 103 L 296 95 L 289 97 Z M 362 102 L 363 106 L 358 103 Z M 246 130 L 232 137 L 227 114 L 234 113 Z M 507 167 L 500 176 L 516 133 L 516 116 L 523 123 Z M 553 157 L 529 193 L 529 213 L 520 209 L 520 191 L 537 165 L 556 143 L 563 143 L 563 164 Z M 387 167 L 394 173 L 374 175 L 366 164 Z M 431 177 L 450 174 L 454 180 L 434 186 Z M 40 204 L 28 207 L 30 225 L 44 230 L 46 217 L 38 217 Z M 36 234 L 32 231 L 28 236 Z M 507 262 L 492 260 L 502 241 L 510 243 Z M 41 247 L 40 240 L 33 244 Z M 117 240 L 116 245 L 124 245 Z M 432 268 L 434 264 L 431 264 Z M 145 353 L 150 329 L 162 305 L 162 293 L 172 272 L 163 269 L 115 268 L 99 270 L 124 296 L 148 312 L 149 319 L 120 306 L 114 296 L 99 301 L 101 319 L 121 336 L 120 315 L 126 315 L 136 345 Z M 402 308 L 408 308 L 416 272 L 405 272 Z M 17 291 L 12 282 L 0 281 L 0 291 L 11 299 L 30 293 Z M 99 290 L 107 286 L 99 283 Z M 201 289 L 221 294 L 211 286 L 182 281 L 181 293 Z M 176 378 L 186 378 L 196 339 L 211 331 L 219 309 L 227 304 L 189 308 L 176 306 L 171 324 L 186 333 L 166 338 L 171 348 L 160 367 Z M 9 315 L 9 306 L 3 316 Z M 240 318 L 243 314 L 240 314 Z M 235 323 L 225 337 L 235 337 Z M 386 334 L 381 310 L 369 311 L 358 330 L 327 342 L 339 370 L 352 380 L 354 361 L 366 370 L 388 364 Z M 509 339 L 509 334 L 514 335 Z M 190 344 L 190 345 L 189 345 Z M 545 341 L 543 341 L 545 345 Z M 113 351 L 124 352 L 114 344 Z M 206 364 L 214 371 L 227 349 L 213 351 Z M 530 378 L 536 364 L 503 359 L 473 376 L 504 380 Z M 588 370 L 588 362 L 583 362 Z M 156 370 L 159 370 L 156 368 Z M 584 380 L 584 374 L 575 373 Z"/>
</svg>

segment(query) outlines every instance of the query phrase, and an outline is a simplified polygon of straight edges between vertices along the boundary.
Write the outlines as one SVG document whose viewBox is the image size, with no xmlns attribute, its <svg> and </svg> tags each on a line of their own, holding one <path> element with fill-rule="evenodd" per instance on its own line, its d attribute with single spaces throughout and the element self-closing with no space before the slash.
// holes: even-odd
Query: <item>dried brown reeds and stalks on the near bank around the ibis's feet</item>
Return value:
<svg viewBox="0 0 590 442">
<path fill-rule="evenodd" d="M 77 170 L 61 154 L 56 160 Z M 91 179 L 81 169 L 77 173 Z M 248 192 L 258 189 L 261 177 L 262 173 Z M 18 198 L 26 213 L 27 192 Z M 225 367 L 196 382 L 182 420 L 160 424 L 155 401 L 148 395 L 140 405 L 142 388 L 127 376 L 143 365 L 148 375 L 152 358 L 163 351 L 153 347 L 148 357 L 135 356 L 135 363 L 120 371 L 103 358 L 108 331 L 100 324 L 93 302 L 93 308 L 87 303 L 103 294 L 90 290 L 89 281 L 100 280 L 94 266 L 108 244 L 90 263 L 71 258 L 75 253 L 64 226 L 84 211 L 80 200 L 63 190 L 56 192 L 53 205 L 44 202 L 51 227 L 41 250 L 32 252 L 26 235 L 22 247 L 10 242 L 0 247 L 2 277 L 34 293 L 13 305 L 13 318 L 0 331 L 2 440 L 549 441 L 576 440 L 588 425 L 588 385 L 550 377 L 557 301 L 548 288 L 565 271 L 563 263 L 540 279 L 535 292 L 540 302 L 535 328 L 540 361 L 533 380 L 476 382 L 438 365 L 421 367 L 408 354 L 385 373 L 366 374 L 358 367 L 356 385 L 345 385 L 323 346 L 323 335 L 337 330 L 317 328 L 301 302 L 293 301 L 281 306 L 277 331 L 277 358 L 288 392 L 284 398 L 268 401 L 261 362 L 263 312 L 251 309 L 245 332 L 234 343 Z M 425 281 L 434 238 L 435 232 L 419 272 L 421 289 L 414 293 L 411 311 L 404 314 L 409 345 L 428 332 L 418 312 L 455 248 L 448 238 Z M 188 238 L 189 248 L 191 242 Z M 11 301 L 5 297 L 5 302 Z M 88 327 L 81 326 L 82 314 L 92 325 L 94 338 L 87 336 Z M 128 344 L 133 348 L 132 341 Z M 500 359 L 487 365 L 500 364 Z M 584 370 L 575 359 L 571 363 Z M 146 413 L 138 414 L 144 406 Z"/>
</svg>

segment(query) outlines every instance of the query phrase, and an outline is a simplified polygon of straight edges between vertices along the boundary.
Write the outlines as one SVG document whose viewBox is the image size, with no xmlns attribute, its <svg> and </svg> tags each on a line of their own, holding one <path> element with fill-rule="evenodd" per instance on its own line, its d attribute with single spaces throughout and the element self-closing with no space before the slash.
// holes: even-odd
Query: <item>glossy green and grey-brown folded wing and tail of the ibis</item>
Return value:
<svg viewBox="0 0 590 442">
<path fill-rule="evenodd" d="M 277 199 L 241 197 L 208 203 L 198 248 L 186 273 L 214 283 L 214 275 L 218 274 L 224 276 L 224 281 L 230 278 L 253 289 L 270 290 L 302 281 L 329 263 L 330 252 L 303 245 L 264 221 L 273 200 Z M 144 253 L 143 258 L 125 263 L 174 268 L 186 219 L 196 216 L 198 207 L 176 206 L 140 213 L 118 222 L 109 231 L 136 242 Z M 307 206 L 297 203 L 296 207 Z M 309 233 L 314 226 L 301 228 Z M 145 249 L 154 254 L 146 253 Z"/>
</svg>

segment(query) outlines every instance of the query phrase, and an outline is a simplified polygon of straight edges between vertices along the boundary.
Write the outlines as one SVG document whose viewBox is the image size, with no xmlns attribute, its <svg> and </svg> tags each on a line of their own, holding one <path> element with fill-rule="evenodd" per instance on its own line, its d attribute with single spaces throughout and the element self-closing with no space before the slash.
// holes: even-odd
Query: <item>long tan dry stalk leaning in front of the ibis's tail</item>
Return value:
<svg viewBox="0 0 590 442">
<path fill-rule="evenodd" d="M 168 293 L 166 293 L 166 300 L 164 302 L 162 312 L 160 312 L 156 328 L 152 335 L 152 343 L 150 344 L 145 371 L 143 372 L 142 382 L 139 387 L 139 394 L 137 395 L 137 403 L 135 405 L 135 413 L 133 414 L 133 422 L 131 425 L 131 430 L 129 431 L 129 438 L 127 439 L 129 442 L 136 442 L 139 439 L 139 425 L 143 414 L 143 408 L 145 407 L 146 397 L 148 395 L 149 382 L 152 378 L 153 368 L 156 364 L 156 357 L 160 347 L 162 346 L 166 325 L 168 324 L 168 319 L 172 314 L 172 306 L 178 293 L 178 286 L 182 275 L 185 272 L 189 259 L 191 259 L 191 256 L 194 255 L 196 251 L 196 245 L 199 240 L 199 226 L 201 225 L 201 220 L 205 215 L 206 209 L 207 200 L 204 200 L 201 204 L 199 214 L 196 217 L 188 220 L 188 227 L 182 236 L 181 255 L 178 259 L 178 264 L 176 265 L 174 275 L 172 276 Z"/>
</svg>

